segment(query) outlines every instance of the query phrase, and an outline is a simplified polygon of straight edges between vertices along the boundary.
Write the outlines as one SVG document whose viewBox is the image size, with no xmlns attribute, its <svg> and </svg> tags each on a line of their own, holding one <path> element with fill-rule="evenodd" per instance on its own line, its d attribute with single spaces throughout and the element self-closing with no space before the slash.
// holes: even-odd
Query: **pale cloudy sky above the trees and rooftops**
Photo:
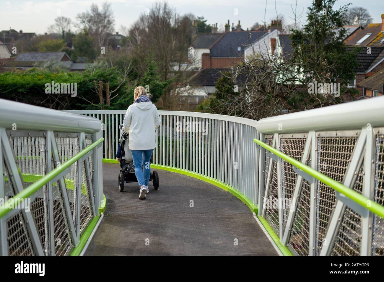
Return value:
<svg viewBox="0 0 384 282">
<path fill-rule="evenodd" d="M 104 0 L 51 0 L 51 1 L 24 1 L 24 0 L 0 0 L 0 30 L 8 30 L 10 27 L 24 32 L 35 32 L 43 34 L 47 27 L 54 23 L 58 9 L 62 16 L 71 18 L 73 21 L 76 14 L 89 10 L 91 3 L 101 6 Z M 131 26 L 146 8 L 150 8 L 151 0 L 108 0 L 112 4 L 115 18 L 115 30 L 119 31 L 120 26 Z M 230 23 L 240 24 L 243 29 L 250 28 L 255 22 L 264 21 L 266 9 L 266 21 L 276 16 L 275 0 L 168 0 L 175 10 L 180 13 L 192 13 L 196 16 L 204 16 L 207 23 L 218 23 L 223 26 L 227 20 Z M 235 3 L 236 2 L 236 3 Z M 374 23 L 381 22 L 381 14 L 384 13 L 384 0 L 338 0 L 336 7 L 346 3 L 353 6 L 367 8 L 374 19 Z M 286 23 L 291 23 L 293 17 L 291 5 L 295 8 L 295 0 L 276 0 L 276 9 L 284 16 Z M 300 14 L 303 9 L 304 23 L 306 8 L 310 6 L 311 0 L 298 0 L 297 11 Z M 235 15 L 237 9 L 237 15 Z"/>
</svg>

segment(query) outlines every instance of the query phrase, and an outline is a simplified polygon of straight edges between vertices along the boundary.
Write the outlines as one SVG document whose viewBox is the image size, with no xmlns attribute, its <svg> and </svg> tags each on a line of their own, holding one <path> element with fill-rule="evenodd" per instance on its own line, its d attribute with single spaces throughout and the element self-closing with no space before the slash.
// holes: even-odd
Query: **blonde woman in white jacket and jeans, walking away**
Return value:
<svg viewBox="0 0 384 282">
<path fill-rule="evenodd" d="M 146 199 L 149 193 L 148 182 L 151 174 L 151 156 L 156 147 L 155 130 L 161 120 L 155 104 L 147 96 L 145 88 L 137 86 L 133 91 L 134 102 L 128 107 L 123 125 L 129 134 L 129 149 L 132 152 L 133 167 L 139 182 L 139 199 Z"/>
</svg>

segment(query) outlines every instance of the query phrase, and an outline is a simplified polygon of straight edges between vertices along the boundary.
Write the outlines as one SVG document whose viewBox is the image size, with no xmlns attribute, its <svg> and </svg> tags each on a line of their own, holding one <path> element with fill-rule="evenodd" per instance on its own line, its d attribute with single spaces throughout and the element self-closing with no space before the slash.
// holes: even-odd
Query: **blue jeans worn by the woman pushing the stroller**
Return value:
<svg viewBox="0 0 384 282">
<path fill-rule="evenodd" d="M 151 150 L 131 150 L 133 158 L 133 167 L 135 168 L 135 175 L 139 186 L 149 183 L 149 175 L 151 174 L 151 156 L 153 149 Z M 143 167 L 143 170 L 141 169 Z"/>
</svg>

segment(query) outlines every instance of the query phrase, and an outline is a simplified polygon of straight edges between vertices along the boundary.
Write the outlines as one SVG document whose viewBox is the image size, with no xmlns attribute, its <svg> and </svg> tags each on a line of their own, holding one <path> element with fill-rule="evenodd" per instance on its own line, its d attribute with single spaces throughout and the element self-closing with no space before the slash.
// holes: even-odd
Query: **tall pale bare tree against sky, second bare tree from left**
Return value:
<svg viewBox="0 0 384 282">
<path fill-rule="evenodd" d="M 114 32 L 113 12 L 111 4 L 107 2 L 103 3 L 101 10 L 98 5 L 92 4 L 90 11 L 79 13 L 76 18 L 76 26 L 87 30 L 95 38 L 99 48 L 105 43 L 107 34 Z"/>
</svg>

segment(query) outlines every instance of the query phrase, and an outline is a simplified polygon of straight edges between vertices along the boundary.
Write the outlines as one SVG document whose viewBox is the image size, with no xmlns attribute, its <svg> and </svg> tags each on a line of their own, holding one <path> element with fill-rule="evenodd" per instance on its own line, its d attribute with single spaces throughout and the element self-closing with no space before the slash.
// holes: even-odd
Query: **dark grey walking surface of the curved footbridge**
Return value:
<svg viewBox="0 0 384 282">
<path fill-rule="evenodd" d="M 157 170 L 159 190 L 149 183 L 147 199 L 139 200 L 136 183 L 118 191 L 118 171 L 103 164 L 107 209 L 86 255 L 277 255 L 249 208 L 230 193 Z"/>
</svg>

